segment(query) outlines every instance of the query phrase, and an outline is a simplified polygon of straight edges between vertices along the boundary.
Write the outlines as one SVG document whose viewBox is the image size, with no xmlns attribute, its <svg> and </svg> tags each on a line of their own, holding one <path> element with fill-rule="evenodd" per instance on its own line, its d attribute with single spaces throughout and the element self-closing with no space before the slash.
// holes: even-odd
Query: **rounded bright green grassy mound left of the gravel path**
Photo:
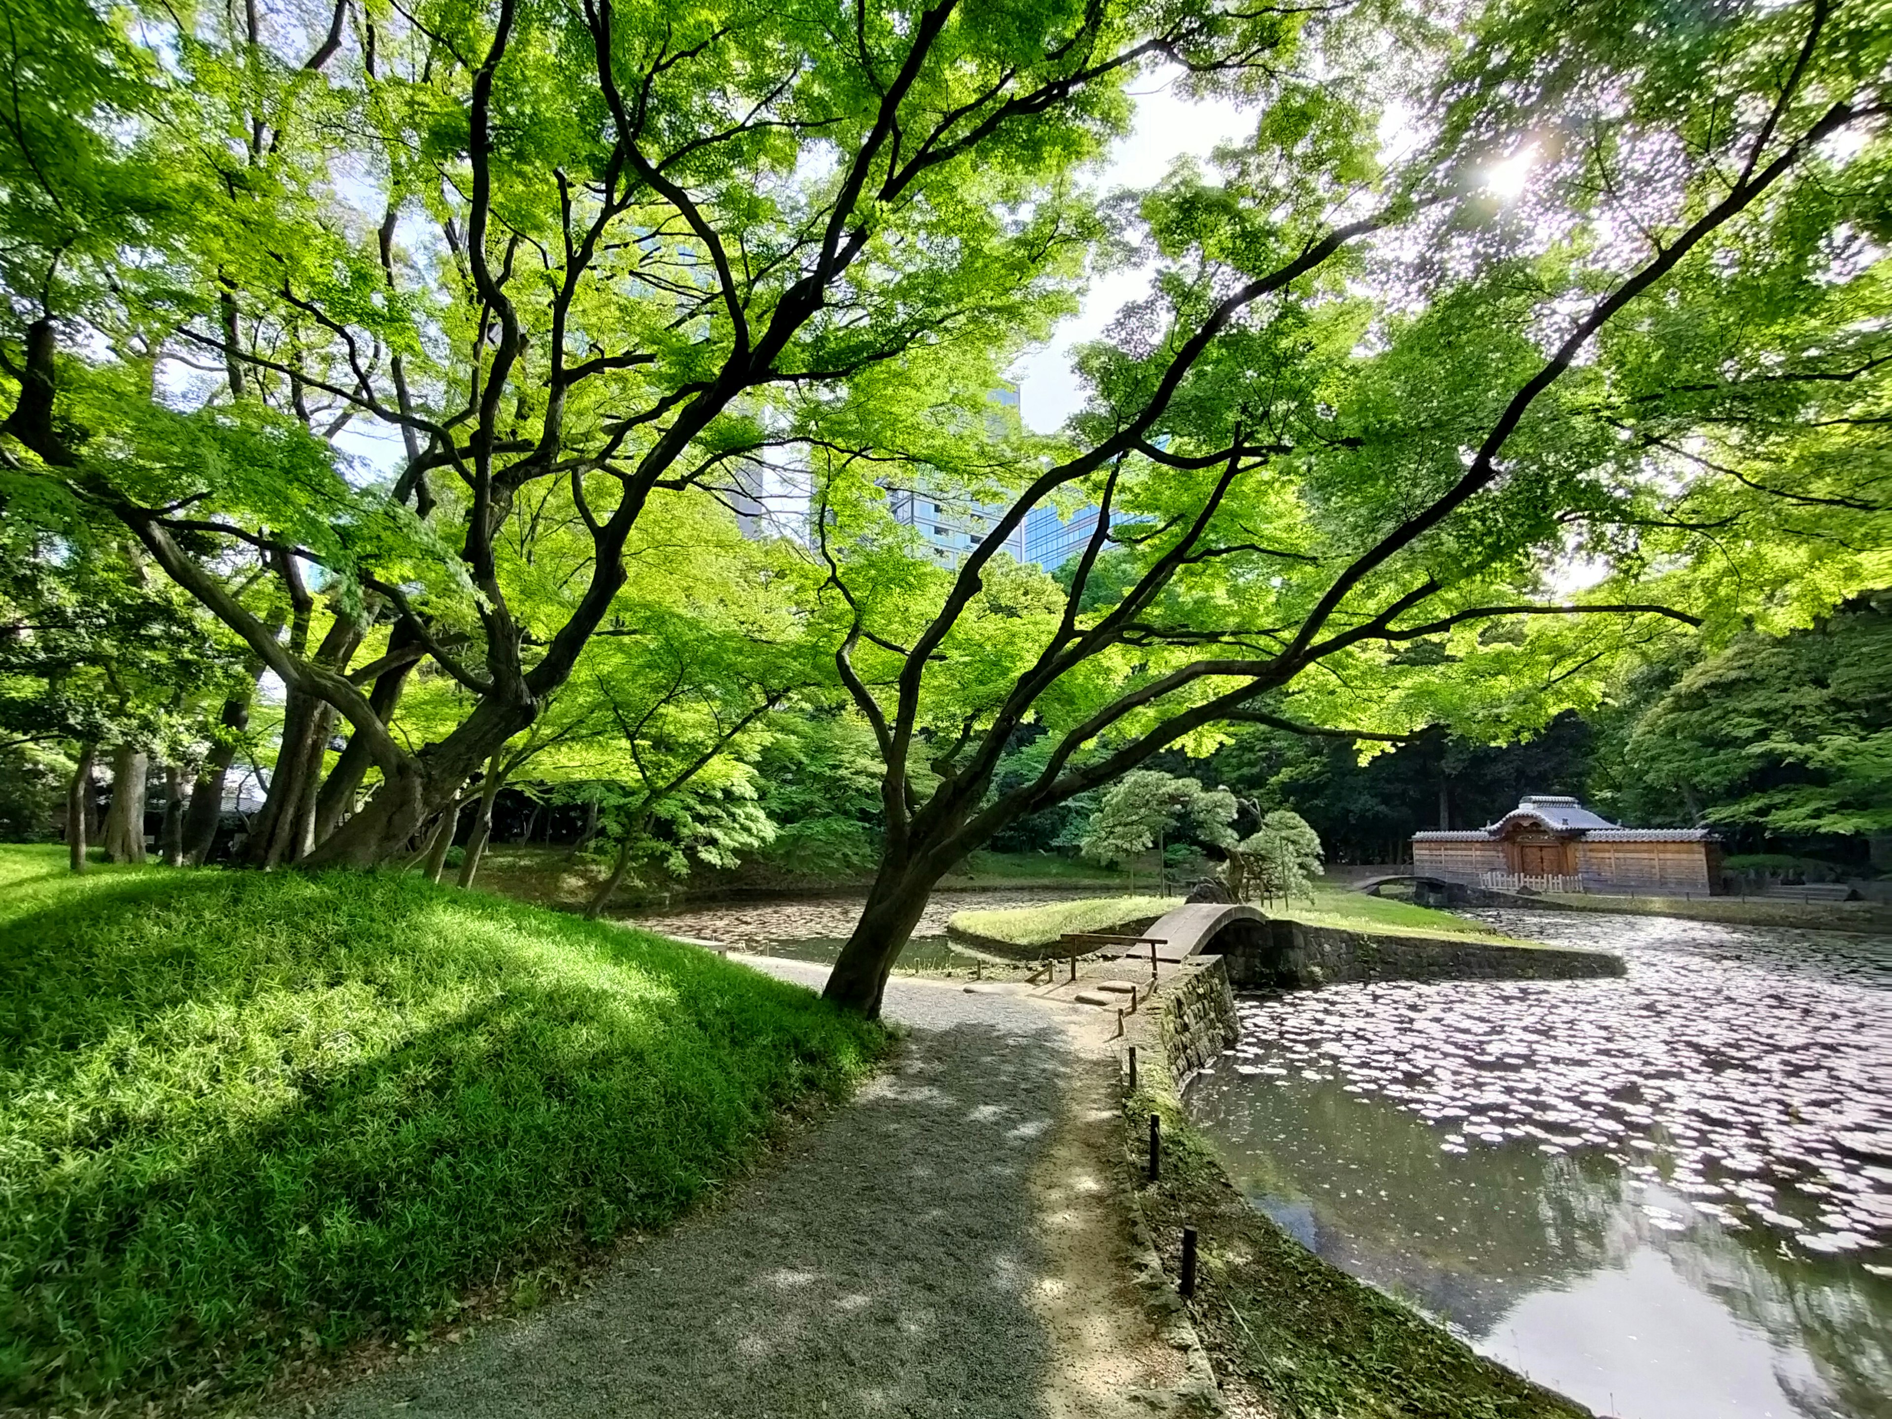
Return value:
<svg viewBox="0 0 1892 1419">
<path fill-rule="evenodd" d="M 416 876 L 0 848 L 0 1408 L 265 1379 L 660 1226 L 882 1031 Z"/>
</svg>

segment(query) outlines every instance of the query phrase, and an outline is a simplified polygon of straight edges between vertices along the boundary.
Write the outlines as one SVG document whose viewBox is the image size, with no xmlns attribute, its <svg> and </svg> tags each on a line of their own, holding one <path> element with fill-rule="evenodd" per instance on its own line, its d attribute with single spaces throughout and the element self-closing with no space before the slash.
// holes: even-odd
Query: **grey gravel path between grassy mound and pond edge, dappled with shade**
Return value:
<svg viewBox="0 0 1892 1419">
<path fill-rule="evenodd" d="M 753 961 L 819 986 L 827 967 Z M 1150 1415 L 1173 1383 L 1101 1181 L 1094 1012 L 899 980 L 897 1065 L 725 1205 L 583 1296 L 358 1381 L 316 1413 Z M 1160 1406 L 1158 1406 L 1160 1408 Z"/>
</svg>

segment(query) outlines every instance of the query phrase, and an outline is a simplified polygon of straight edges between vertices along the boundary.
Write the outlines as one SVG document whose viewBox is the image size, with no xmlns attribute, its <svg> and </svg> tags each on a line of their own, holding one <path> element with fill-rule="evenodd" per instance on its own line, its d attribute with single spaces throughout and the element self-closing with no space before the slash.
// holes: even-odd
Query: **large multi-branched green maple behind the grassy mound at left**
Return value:
<svg viewBox="0 0 1892 1419">
<path fill-rule="evenodd" d="M 337 0 L 314 28 L 254 6 L 180 30 L 153 6 L 119 34 L 30 9 L 11 66 L 38 127 L 0 134 L 30 238 L 6 433 L 282 679 L 288 776 L 346 721 L 378 783 L 312 846 L 289 819 L 278 859 L 308 865 L 405 851 L 532 725 L 653 496 L 753 467 L 783 409 L 882 363 L 1042 333 L 1092 221 L 1069 178 L 1145 64 L 1239 78 L 1304 23 L 1207 0 Z M 42 129 L 155 208 L 55 223 Z M 153 361 L 210 378 L 155 397 Z M 386 477 L 337 454 L 361 429 L 399 441 Z M 549 513 L 587 541 L 558 577 L 522 568 Z M 257 566 L 291 598 L 320 569 L 333 634 L 284 641 L 242 590 Z M 378 677 L 426 658 L 471 696 L 418 747 L 350 668 L 390 622 Z"/>
</svg>

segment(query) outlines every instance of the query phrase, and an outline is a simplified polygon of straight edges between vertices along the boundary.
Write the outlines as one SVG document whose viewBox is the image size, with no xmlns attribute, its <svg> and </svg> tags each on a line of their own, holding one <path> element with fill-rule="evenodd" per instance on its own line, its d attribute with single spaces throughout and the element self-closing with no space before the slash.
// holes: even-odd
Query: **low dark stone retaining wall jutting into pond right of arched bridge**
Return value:
<svg viewBox="0 0 1892 1419">
<path fill-rule="evenodd" d="M 1497 946 L 1432 937 L 1381 937 L 1300 921 L 1270 920 L 1253 933 L 1224 933 L 1222 952 L 1234 990 L 1336 986 L 1347 980 L 1574 980 L 1620 976 L 1608 952 L 1557 946 Z"/>
</svg>

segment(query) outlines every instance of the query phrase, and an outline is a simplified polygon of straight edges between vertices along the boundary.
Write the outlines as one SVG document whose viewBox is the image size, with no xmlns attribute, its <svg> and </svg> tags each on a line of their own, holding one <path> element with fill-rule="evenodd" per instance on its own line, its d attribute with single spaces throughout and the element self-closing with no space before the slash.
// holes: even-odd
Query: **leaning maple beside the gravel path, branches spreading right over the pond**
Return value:
<svg viewBox="0 0 1892 1419">
<path fill-rule="evenodd" d="M 1883 462 L 1835 450 L 1881 437 L 1888 367 L 1884 259 L 1848 236 L 1883 229 L 1875 11 L 1703 25 L 1635 4 L 1572 30 L 1500 0 L 1417 96 L 1434 140 L 1391 166 L 1362 142 L 1377 114 L 1336 81 L 1357 72 L 1345 34 L 1300 32 L 1326 40 L 1298 57 L 1319 91 L 1287 62 L 1256 85 L 1256 138 L 1218 184 L 1186 166 L 1141 195 L 1122 235 L 1164 261 L 1156 293 L 1086 352 L 1092 403 L 1065 439 L 959 456 L 969 486 L 1014 479 L 955 573 L 889 566 L 885 471 L 825 479 L 836 666 L 874 725 L 887 817 L 831 999 L 878 1010 L 969 850 L 1220 725 L 1540 727 L 1593 702 L 1597 666 L 1657 621 L 1727 634 L 1792 602 L 1796 568 L 1833 588 L 1871 573 Z M 1534 163 L 1515 208 L 1468 191 L 1498 157 Z M 874 412 L 810 418 L 878 469 L 942 465 Z M 1794 448 L 1771 481 L 1746 450 L 1699 454 L 1697 435 L 1743 428 Z M 1103 515 L 1069 588 L 1008 566 L 1027 511 L 1077 490 Z M 1845 522 L 1843 552 L 1809 509 Z M 1112 532 L 1112 511 L 1133 522 Z M 1705 596 L 1699 564 L 1735 539 L 1756 579 Z M 1137 577 L 1090 604 L 1111 543 Z M 1790 554 L 1746 554 L 1773 543 Z M 1551 569 L 1578 556 L 1604 579 L 1557 596 Z M 1027 725 L 1037 772 L 997 791 Z"/>
</svg>

